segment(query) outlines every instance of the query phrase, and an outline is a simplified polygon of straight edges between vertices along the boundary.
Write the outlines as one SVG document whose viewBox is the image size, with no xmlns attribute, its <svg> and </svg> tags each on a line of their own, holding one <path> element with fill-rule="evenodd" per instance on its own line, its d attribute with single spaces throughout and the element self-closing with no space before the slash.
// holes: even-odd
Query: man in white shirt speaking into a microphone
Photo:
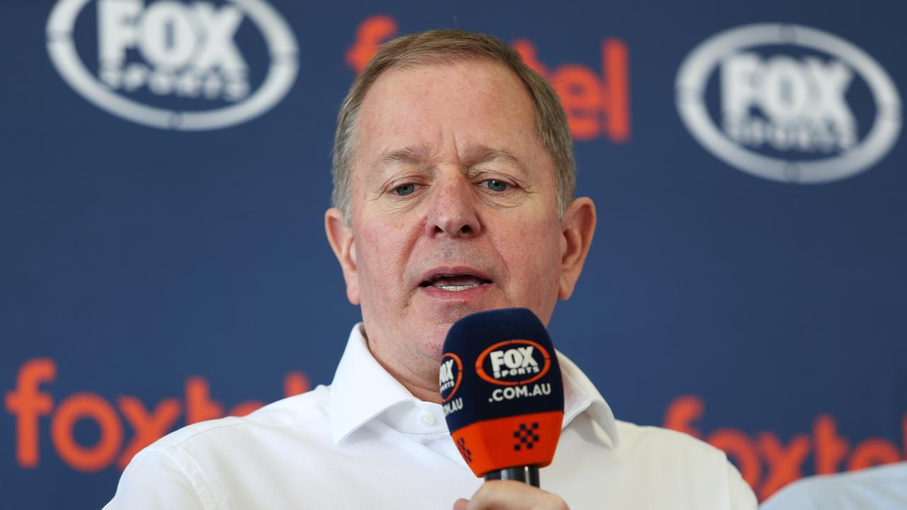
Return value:
<svg viewBox="0 0 907 510">
<path fill-rule="evenodd" d="M 507 307 L 547 323 L 595 230 L 592 201 L 573 200 L 561 105 L 518 54 L 462 31 L 385 44 L 346 96 L 334 154 L 327 238 L 363 322 L 333 383 L 165 436 L 109 508 L 756 507 L 722 452 L 615 421 L 563 357 L 544 491 L 483 484 L 453 445 L 438 404 L 447 330 Z"/>
</svg>

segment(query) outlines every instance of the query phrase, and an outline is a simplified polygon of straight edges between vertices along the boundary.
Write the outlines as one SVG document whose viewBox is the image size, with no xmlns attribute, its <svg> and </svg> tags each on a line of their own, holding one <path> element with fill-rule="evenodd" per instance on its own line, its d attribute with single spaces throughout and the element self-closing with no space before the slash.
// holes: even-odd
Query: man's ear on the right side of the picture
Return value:
<svg viewBox="0 0 907 510">
<path fill-rule="evenodd" d="M 561 288 L 558 297 L 570 299 L 576 280 L 580 278 L 582 264 L 595 234 L 595 204 L 582 197 L 573 201 L 564 213 L 561 225 Z"/>
</svg>

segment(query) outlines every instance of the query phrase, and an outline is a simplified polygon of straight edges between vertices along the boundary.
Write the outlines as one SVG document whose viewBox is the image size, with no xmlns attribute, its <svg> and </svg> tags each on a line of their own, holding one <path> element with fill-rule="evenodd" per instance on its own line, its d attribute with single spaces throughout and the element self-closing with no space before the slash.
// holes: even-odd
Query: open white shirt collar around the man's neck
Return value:
<svg viewBox="0 0 907 510">
<path fill-rule="evenodd" d="M 434 414 L 443 416 L 440 414 L 441 406 L 420 401 L 387 373 L 368 350 L 363 330 L 361 322 L 353 327 L 331 382 L 331 436 L 336 445 L 404 402 L 437 407 Z M 580 413 L 588 412 L 593 421 L 610 436 L 612 446 L 617 446 L 617 424 L 608 403 L 580 368 L 560 352 L 557 355 L 564 381 L 563 426 L 567 427 Z M 390 425 L 393 427 L 393 423 Z"/>
</svg>

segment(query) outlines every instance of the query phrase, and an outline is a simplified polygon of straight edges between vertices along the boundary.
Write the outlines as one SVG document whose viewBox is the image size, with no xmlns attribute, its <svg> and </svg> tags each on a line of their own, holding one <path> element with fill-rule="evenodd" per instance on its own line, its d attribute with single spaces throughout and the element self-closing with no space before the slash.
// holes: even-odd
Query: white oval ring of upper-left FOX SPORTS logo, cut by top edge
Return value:
<svg viewBox="0 0 907 510">
<path fill-rule="evenodd" d="M 265 37 L 271 63 L 265 80 L 245 100 L 203 112 L 179 112 L 147 106 L 114 93 L 97 80 L 79 58 L 73 42 L 76 16 L 93 0 L 59 0 L 47 19 L 47 52 L 63 79 L 95 106 L 146 126 L 180 131 L 205 131 L 244 123 L 274 107 L 296 81 L 298 48 L 289 25 L 262 0 L 228 0 L 258 27 Z M 267 28 L 267 29 L 266 29 Z"/>
</svg>

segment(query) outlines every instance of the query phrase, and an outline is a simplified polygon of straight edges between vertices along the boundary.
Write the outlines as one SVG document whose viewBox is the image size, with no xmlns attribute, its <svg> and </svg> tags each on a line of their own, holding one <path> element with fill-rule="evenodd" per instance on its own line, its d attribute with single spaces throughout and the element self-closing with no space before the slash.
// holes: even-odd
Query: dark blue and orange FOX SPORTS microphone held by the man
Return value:
<svg viewBox="0 0 907 510">
<path fill-rule="evenodd" d="M 528 309 L 457 320 L 438 382 L 447 427 L 475 476 L 539 486 L 564 414 L 561 367 L 541 320 Z"/>
</svg>

